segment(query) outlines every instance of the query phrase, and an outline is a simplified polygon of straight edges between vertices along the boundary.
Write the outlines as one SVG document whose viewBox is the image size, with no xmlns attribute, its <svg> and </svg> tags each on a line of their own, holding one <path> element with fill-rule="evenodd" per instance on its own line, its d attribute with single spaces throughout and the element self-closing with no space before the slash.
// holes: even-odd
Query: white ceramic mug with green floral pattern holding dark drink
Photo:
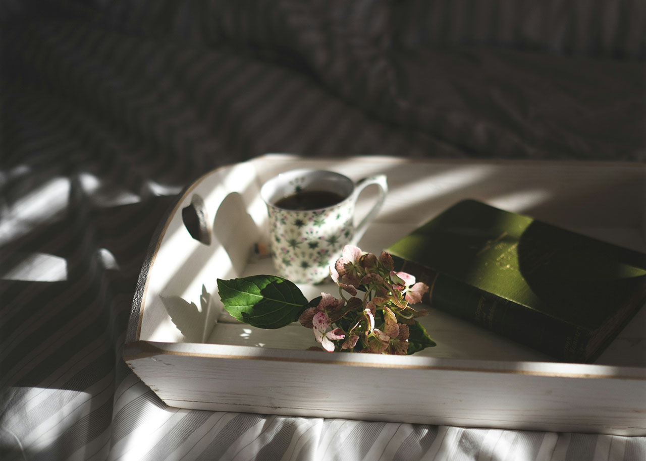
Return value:
<svg viewBox="0 0 646 461">
<path fill-rule="evenodd" d="M 371 184 L 379 186 L 377 201 L 355 225 L 357 198 Z M 311 169 L 291 170 L 269 179 L 260 189 L 260 196 L 269 212 L 271 255 L 278 274 L 295 283 L 326 280 L 329 265 L 341 256 L 344 245 L 356 245 L 366 232 L 384 204 L 386 192 L 388 183 L 383 174 L 356 184 L 342 174 Z M 320 207 L 317 200 L 310 206 L 300 203 L 303 209 L 291 209 L 283 200 L 291 196 L 294 202 L 307 194 L 324 198 L 327 193 L 338 194 L 338 200 Z"/>
</svg>

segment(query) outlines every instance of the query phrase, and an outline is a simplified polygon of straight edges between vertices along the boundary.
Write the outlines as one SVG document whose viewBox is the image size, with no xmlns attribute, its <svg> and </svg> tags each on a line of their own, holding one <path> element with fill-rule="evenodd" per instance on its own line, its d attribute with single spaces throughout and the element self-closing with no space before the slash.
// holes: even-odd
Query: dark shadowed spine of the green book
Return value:
<svg viewBox="0 0 646 461">
<path fill-rule="evenodd" d="M 423 300 L 430 307 L 457 316 L 565 362 L 587 362 L 586 329 L 561 322 L 495 294 L 483 291 L 428 267 L 393 256 L 395 267 L 430 287 Z"/>
</svg>

